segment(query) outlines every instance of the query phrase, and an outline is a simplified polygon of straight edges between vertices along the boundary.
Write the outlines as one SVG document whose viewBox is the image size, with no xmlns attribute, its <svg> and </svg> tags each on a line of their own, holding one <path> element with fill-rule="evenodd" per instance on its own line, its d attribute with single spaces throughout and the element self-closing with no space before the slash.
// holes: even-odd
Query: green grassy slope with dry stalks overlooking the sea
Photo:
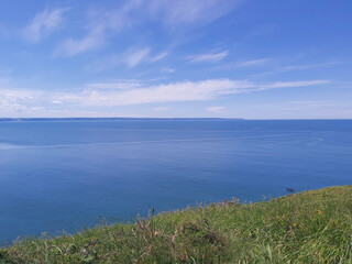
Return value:
<svg viewBox="0 0 352 264">
<path fill-rule="evenodd" d="M 22 241 L 0 263 L 352 263 L 352 186 Z"/>
</svg>

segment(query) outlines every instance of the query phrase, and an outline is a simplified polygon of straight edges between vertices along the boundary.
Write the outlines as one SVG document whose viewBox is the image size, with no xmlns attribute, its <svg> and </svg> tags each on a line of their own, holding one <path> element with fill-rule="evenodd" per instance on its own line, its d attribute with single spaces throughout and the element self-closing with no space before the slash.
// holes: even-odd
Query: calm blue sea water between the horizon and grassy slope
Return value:
<svg viewBox="0 0 352 264">
<path fill-rule="evenodd" d="M 352 184 L 352 120 L 0 122 L 0 240 Z"/>
</svg>

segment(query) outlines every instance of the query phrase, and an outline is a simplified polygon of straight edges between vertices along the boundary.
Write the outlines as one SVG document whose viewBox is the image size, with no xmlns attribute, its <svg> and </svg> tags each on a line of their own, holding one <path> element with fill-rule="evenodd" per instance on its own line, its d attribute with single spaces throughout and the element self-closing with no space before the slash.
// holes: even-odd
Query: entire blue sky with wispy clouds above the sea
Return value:
<svg viewBox="0 0 352 264">
<path fill-rule="evenodd" d="M 0 118 L 352 118 L 350 0 L 2 0 Z"/>
</svg>

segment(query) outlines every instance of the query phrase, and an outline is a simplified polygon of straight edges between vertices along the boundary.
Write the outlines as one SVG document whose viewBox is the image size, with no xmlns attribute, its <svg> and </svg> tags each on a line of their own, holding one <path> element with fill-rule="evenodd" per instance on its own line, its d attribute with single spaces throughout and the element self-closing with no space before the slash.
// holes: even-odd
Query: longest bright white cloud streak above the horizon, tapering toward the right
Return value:
<svg viewBox="0 0 352 264">
<path fill-rule="evenodd" d="M 255 84 L 249 80 L 209 79 L 166 85 L 141 85 L 125 90 L 88 89 L 80 94 L 59 95 L 52 100 L 76 102 L 84 106 L 130 106 L 155 102 L 205 101 L 232 94 L 252 92 L 275 88 L 308 87 L 328 84 L 328 80 L 276 81 Z M 107 86 L 112 87 L 113 84 Z M 99 87 L 102 88 L 102 87 Z"/>
</svg>

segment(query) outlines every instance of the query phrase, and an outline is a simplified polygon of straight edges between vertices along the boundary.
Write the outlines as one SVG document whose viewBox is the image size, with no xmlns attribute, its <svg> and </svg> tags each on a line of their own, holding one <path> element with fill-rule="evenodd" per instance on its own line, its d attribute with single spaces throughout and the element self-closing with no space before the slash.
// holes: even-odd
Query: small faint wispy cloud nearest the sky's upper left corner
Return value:
<svg viewBox="0 0 352 264">
<path fill-rule="evenodd" d="M 38 42 L 45 35 L 59 28 L 63 22 L 63 13 L 67 10 L 68 8 L 52 11 L 45 9 L 43 12 L 37 13 L 23 29 L 23 37 L 33 43 Z"/>
</svg>

